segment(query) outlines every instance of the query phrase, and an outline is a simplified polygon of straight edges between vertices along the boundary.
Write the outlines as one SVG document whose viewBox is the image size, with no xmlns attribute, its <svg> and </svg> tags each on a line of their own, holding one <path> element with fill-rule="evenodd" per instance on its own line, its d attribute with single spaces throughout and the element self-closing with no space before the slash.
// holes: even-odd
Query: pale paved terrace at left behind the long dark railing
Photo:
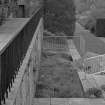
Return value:
<svg viewBox="0 0 105 105">
<path fill-rule="evenodd" d="M 0 26 L 0 54 L 8 47 L 9 43 L 17 36 L 29 18 L 8 19 Z"/>
</svg>

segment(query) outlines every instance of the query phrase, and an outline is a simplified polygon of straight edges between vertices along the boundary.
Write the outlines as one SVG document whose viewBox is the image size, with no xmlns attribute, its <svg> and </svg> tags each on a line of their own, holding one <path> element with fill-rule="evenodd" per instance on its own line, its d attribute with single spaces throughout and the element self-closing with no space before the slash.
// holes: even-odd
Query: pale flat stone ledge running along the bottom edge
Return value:
<svg viewBox="0 0 105 105">
<path fill-rule="evenodd" d="M 105 105 L 105 100 L 88 98 L 34 98 L 32 105 Z"/>
</svg>

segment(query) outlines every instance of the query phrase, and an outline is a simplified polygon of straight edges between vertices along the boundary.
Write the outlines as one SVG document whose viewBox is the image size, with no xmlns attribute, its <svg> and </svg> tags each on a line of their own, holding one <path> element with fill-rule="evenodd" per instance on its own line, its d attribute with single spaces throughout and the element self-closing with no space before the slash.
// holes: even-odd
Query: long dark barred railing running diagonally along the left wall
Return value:
<svg viewBox="0 0 105 105">
<path fill-rule="evenodd" d="M 41 17 L 42 9 L 38 9 L 0 53 L 0 102 L 5 102 L 8 92 L 11 91 L 14 79 L 18 74 Z"/>
</svg>

